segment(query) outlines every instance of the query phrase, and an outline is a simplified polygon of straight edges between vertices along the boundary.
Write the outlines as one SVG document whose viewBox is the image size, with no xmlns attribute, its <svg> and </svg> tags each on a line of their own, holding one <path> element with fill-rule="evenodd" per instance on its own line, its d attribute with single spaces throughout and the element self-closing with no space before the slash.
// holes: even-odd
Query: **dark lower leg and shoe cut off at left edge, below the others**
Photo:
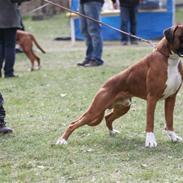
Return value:
<svg viewBox="0 0 183 183">
<path fill-rule="evenodd" d="M 5 116 L 6 112 L 3 107 L 3 97 L 0 93 L 0 133 L 11 133 L 13 130 L 11 128 L 6 127 L 6 122 L 5 122 Z"/>
</svg>

